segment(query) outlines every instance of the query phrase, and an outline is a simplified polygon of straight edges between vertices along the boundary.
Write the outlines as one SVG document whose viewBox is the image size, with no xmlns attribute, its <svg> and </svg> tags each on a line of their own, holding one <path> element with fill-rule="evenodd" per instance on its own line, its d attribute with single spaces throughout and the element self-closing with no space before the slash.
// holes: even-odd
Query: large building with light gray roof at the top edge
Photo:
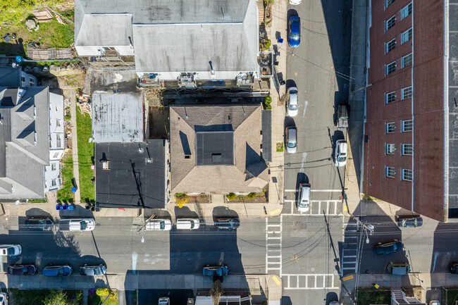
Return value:
<svg viewBox="0 0 458 305">
<path fill-rule="evenodd" d="M 140 77 L 259 77 L 255 0 L 75 0 L 79 56 L 135 56 Z M 242 79 L 242 78 L 241 78 Z"/>
</svg>

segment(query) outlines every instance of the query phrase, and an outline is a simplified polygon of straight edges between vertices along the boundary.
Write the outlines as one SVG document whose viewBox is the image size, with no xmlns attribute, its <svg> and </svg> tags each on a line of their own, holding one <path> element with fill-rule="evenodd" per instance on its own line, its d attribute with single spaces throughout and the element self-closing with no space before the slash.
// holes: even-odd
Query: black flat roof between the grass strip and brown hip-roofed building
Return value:
<svg viewBox="0 0 458 305">
<path fill-rule="evenodd" d="M 165 139 L 142 143 L 96 143 L 95 200 L 98 208 L 165 208 Z"/>
</svg>

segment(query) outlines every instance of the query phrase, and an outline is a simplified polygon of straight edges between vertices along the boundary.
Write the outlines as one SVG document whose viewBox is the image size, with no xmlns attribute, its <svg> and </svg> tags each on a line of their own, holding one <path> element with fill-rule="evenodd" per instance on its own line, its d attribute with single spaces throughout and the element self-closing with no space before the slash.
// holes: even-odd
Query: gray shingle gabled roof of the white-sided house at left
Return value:
<svg viewBox="0 0 458 305">
<path fill-rule="evenodd" d="M 0 88 L 0 96 L 5 91 Z M 49 91 L 47 87 L 27 87 L 22 94 L 16 106 L 0 107 L 0 155 L 4 156 L 0 158 L 0 199 L 44 197 Z"/>
</svg>

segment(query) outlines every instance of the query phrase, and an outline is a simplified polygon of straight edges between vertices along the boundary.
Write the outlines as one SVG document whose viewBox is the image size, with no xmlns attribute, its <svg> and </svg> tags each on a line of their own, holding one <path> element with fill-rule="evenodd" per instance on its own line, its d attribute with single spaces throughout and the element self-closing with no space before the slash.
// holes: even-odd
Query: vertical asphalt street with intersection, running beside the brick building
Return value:
<svg viewBox="0 0 458 305">
<path fill-rule="evenodd" d="M 341 204 L 345 168 L 334 166 L 333 149 L 337 139 L 347 137 L 347 130 L 335 127 L 335 105 L 348 99 L 352 1 L 309 0 L 288 8 L 288 18 L 301 18 L 302 37 L 297 48 L 287 48 L 286 87 L 298 88 L 299 113 L 285 118 L 285 127 L 297 127 L 298 149 L 285 153 L 285 196 L 292 215 L 283 216 L 283 261 L 290 259 L 283 263 L 283 295 L 285 304 L 324 304 L 340 292 L 341 252 L 347 246 Z M 295 215 L 300 182 L 311 184 L 309 216 Z"/>
</svg>

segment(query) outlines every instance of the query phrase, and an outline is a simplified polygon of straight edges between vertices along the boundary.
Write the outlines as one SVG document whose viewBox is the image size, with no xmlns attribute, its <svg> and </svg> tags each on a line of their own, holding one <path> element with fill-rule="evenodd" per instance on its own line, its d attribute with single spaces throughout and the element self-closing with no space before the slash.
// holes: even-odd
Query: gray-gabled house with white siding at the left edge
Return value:
<svg viewBox="0 0 458 305">
<path fill-rule="evenodd" d="M 56 117 L 63 125 L 63 97 L 48 87 L 0 87 L 1 200 L 42 199 L 61 185 Z"/>
</svg>

